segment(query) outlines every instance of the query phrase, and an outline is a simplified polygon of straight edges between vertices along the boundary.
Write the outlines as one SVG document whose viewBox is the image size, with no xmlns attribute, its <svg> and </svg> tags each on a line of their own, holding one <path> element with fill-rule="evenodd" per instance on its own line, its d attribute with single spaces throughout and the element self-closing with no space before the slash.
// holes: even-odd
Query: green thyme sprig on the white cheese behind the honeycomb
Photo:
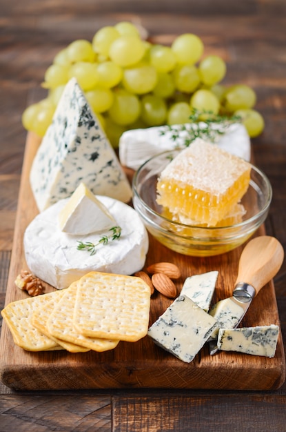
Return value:
<svg viewBox="0 0 286 432">
<path fill-rule="evenodd" d="M 215 142 L 220 135 L 223 135 L 231 124 L 241 121 L 241 117 L 233 115 L 214 114 L 212 111 L 197 110 L 194 108 L 190 115 L 190 124 L 167 125 L 161 129 L 160 135 L 170 133 L 172 141 L 181 142 L 188 147 L 196 138 Z"/>
</svg>

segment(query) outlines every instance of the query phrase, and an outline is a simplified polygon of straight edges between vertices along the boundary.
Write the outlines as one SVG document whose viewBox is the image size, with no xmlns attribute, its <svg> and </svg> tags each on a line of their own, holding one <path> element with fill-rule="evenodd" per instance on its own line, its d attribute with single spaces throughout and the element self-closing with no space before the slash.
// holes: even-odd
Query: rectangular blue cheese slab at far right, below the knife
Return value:
<svg viewBox="0 0 286 432">
<path fill-rule="evenodd" d="M 256 326 L 224 328 L 218 331 L 218 349 L 239 353 L 274 357 L 279 335 L 279 327 Z"/>
</svg>

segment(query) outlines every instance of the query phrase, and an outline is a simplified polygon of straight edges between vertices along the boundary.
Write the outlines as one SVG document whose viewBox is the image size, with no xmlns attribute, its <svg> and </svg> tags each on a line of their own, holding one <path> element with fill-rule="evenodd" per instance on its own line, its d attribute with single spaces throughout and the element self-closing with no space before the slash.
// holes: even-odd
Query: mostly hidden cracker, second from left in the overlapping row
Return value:
<svg viewBox="0 0 286 432">
<path fill-rule="evenodd" d="M 90 351 L 90 348 L 86 348 L 85 346 L 79 346 L 76 344 L 72 344 L 70 342 L 60 340 L 57 337 L 51 335 L 48 331 L 47 322 L 50 317 L 50 314 L 52 313 L 55 306 L 59 302 L 59 299 L 63 297 L 64 293 L 65 293 L 64 290 L 59 291 L 59 295 L 51 297 L 50 302 L 45 304 L 45 307 L 38 308 L 37 311 L 34 311 L 34 313 L 32 314 L 32 325 L 38 328 L 38 330 L 41 331 L 41 333 L 50 337 L 50 339 L 54 340 L 54 342 L 57 342 L 59 345 L 61 345 L 63 348 L 65 348 L 65 350 L 69 351 L 70 353 L 86 353 L 87 351 Z"/>
</svg>

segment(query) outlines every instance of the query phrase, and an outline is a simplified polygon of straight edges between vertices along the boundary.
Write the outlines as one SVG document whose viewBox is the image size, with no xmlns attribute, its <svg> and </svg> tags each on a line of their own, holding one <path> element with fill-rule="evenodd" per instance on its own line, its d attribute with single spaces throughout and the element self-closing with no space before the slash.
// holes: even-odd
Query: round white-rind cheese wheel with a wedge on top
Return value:
<svg viewBox="0 0 286 432">
<path fill-rule="evenodd" d="M 121 237 L 99 244 L 96 254 L 78 251 L 78 242 L 97 243 L 103 233 L 78 236 L 63 233 L 57 224 L 68 199 L 39 213 L 24 234 L 25 259 L 30 271 L 43 281 L 62 289 L 90 271 L 132 275 L 145 264 L 148 236 L 136 211 L 110 197 L 96 195 L 121 227 Z M 108 233 L 106 233 L 108 234 Z"/>
</svg>

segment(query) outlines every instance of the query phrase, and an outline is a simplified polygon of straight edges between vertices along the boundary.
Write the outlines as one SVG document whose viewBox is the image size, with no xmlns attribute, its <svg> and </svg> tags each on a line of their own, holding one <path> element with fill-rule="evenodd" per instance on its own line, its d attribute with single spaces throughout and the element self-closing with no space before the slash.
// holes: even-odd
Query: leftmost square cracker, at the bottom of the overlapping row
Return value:
<svg viewBox="0 0 286 432">
<path fill-rule="evenodd" d="M 50 297 L 57 295 L 57 292 L 28 297 L 24 300 L 17 300 L 9 303 L 1 315 L 6 321 L 14 343 L 26 351 L 52 351 L 63 349 L 57 342 L 41 333 L 38 328 L 32 325 L 32 314 L 39 307 L 45 307 L 50 302 Z"/>
</svg>

